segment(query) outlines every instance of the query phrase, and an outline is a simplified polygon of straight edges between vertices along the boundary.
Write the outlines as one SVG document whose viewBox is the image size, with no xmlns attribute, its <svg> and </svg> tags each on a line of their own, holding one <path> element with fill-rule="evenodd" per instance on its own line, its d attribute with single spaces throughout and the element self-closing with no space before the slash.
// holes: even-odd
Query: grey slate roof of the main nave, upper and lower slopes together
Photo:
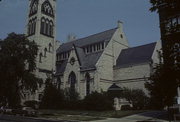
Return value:
<svg viewBox="0 0 180 122">
<path fill-rule="evenodd" d="M 56 52 L 57 52 L 57 54 L 67 52 L 67 51 L 70 51 L 72 49 L 72 47 L 74 46 L 79 63 L 80 63 L 81 71 L 93 70 L 96 68 L 95 65 L 103 51 L 85 54 L 82 47 L 90 45 L 90 44 L 103 42 L 103 41 L 109 42 L 110 39 L 112 38 L 113 34 L 115 33 L 116 29 L 117 28 L 110 29 L 110 30 L 107 30 L 107 31 L 104 31 L 101 33 L 97 33 L 97 34 L 94 34 L 94 35 L 91 35 L 91 36 L 88 36 L 88 37 L 85 37 L 82 39 L 77 39 L 75 41 L 64 43 L 64 44 L 60 45 L 60 47 L 57 49 Z M 58 65 L 58 63 L 57 63 L 57 66 L 56 66 L 57 67 L 57 69 L 56 69 L 57 75 L 63 74 L 67 63 L 68 63 L 67 60 L 62 61 L 61 65 L 60 64 Z"/>
</svg>

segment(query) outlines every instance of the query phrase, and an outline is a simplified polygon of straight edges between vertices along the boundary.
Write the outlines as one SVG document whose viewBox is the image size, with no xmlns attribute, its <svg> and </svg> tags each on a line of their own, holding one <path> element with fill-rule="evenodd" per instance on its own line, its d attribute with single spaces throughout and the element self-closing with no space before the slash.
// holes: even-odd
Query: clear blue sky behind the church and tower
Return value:
<svg viewBox="0 0 180 122">
<path fill-rule="evenodd" d="M 29 0 L 0 2 L 0 39 L 8 33 L 24 33 Z M 83 38 L 117 27 L 131 47 L 160 40 L 158 14 L 149 11 L 149 0 L 56 0 L 56 39 L 66 42 L 68 34 Z"/>
</svg>

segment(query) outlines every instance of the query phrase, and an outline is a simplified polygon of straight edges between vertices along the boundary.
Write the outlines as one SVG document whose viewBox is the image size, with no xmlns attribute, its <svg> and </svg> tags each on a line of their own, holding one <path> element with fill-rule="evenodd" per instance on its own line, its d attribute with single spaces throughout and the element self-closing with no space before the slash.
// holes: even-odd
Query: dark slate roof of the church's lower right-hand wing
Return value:
<svg viewBox="0 0 180 122">
<path fill-rule="evenodd" d="M 156 42 L 123 49 L 116 60 L 116 67 L 129 67 L 151 61 L 155 46 Z"/>
</svg>

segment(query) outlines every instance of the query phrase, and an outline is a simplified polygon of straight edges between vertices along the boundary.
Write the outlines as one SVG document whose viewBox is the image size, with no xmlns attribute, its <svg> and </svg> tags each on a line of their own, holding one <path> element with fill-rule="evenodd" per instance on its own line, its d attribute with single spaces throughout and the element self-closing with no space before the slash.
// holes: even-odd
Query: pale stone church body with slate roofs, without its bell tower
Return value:
<svg viewBox="0 0 180 122">
<path fill-rule="evenodd" d="M 62 89 L 77 91 L 81 98 L 93 91 L 107 91 L 113 83 L 143 89 L 160 43 L 129 47 L 122 22 L 118 27 L 63 43 L 56 51 L 56 77 Z"/>
</svg>

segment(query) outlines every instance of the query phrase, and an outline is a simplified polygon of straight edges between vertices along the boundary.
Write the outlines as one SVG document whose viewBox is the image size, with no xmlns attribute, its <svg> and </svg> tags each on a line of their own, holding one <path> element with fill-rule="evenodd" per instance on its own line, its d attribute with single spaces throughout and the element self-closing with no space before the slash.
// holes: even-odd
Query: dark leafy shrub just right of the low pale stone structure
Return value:
<svg viewBox="0 0 180 122">
<path fill-rule="evenodd" d="M 123 88 L 122 98 L 129 101 L 134 109 L 145 109 L 149 104 L 149 98 L 141 89 Z"/>
</svg>

